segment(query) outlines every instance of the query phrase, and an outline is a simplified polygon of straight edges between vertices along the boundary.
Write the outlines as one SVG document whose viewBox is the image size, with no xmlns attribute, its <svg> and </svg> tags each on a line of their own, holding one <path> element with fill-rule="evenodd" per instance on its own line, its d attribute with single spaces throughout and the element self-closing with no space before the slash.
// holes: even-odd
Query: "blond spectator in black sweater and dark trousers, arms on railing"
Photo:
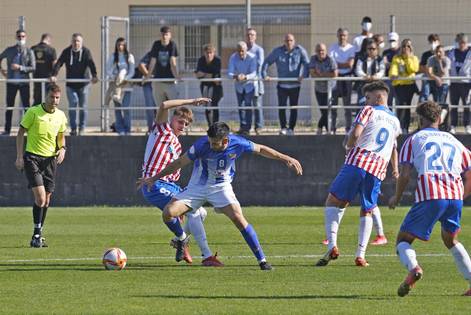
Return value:
<svg viewBox="0 0 471 315">
<path fill-rule="evenodd" d="M 203 46 L 203 56 L 198 59 L 198 65 L 195 70 L 196 78 L 214 79 L 221 77 L 221 58 L 216 56 L 216 47 L 211 44 Z M 221 82 L 201 82 L 200 83 L 201 95 L 211 99 L 211 107 L 218 107 L 219 99 L 222 97 Z M 208 106 L 208 102 L 205 102 Z M 212 113 L 211 113 L 212 112 Z M 206 121 L 208 126 L 211 127 L 213 123 L 219 121 L 219 111 L 217 109 L 207 109 Z"/>
</svg>

